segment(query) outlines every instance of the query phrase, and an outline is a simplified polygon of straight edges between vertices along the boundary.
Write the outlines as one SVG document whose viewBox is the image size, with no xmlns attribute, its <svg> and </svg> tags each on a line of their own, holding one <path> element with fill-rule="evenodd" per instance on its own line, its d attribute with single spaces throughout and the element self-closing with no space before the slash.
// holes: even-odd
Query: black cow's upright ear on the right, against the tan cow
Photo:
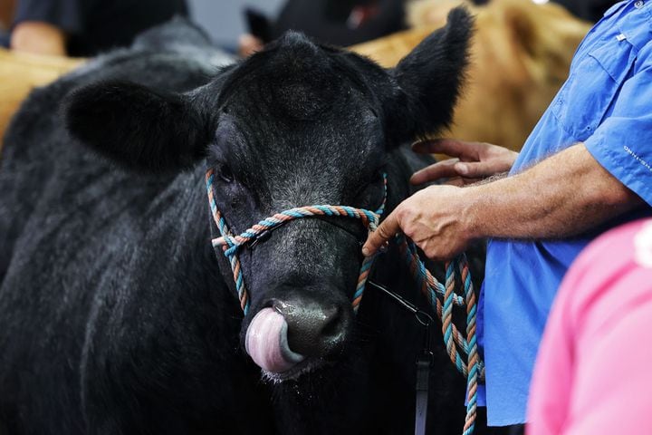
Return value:
<svg viewBox="0 0 652 435">
<path fill-rule="evenodd" d="M 388 109 L 387 127 L 393 140 L 414 140 L 450 124 L 473 30 L 471 14 L 456 7 L 445 27 L 427 36 L 391 71 L 398 84 Z"/>
</svg>

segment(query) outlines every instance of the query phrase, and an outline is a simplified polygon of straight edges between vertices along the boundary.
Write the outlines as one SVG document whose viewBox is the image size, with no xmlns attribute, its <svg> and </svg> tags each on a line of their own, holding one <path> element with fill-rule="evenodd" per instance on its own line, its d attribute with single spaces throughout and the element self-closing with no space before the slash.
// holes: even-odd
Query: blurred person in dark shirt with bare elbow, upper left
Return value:
<svg viewBox="0 0 652 435">
<path fill-rule="evenodd" d="M 127 46 L 140 32 L 187 16 L 186 0 L 18 0 L 10 46 L 54 55 L 93 56 Z"/>
</svg>

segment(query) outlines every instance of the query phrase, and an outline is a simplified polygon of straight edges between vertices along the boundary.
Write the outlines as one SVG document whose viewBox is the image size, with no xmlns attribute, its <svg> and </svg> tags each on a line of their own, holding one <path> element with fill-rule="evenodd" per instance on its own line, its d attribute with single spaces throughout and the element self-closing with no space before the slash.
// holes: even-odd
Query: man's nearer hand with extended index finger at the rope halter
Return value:
<svg viewBox="0 0 652 435">
<path fill-rule="evenodd" d="M 373 255 L 398 232 L 403 232 L 432 260 L 444 261 L 461 253 L 474 238 L 472 201 L 453 186 L 431 186 L 419 190 L 398 205 L 369 234 L 362 254 Z"/>
</svg>

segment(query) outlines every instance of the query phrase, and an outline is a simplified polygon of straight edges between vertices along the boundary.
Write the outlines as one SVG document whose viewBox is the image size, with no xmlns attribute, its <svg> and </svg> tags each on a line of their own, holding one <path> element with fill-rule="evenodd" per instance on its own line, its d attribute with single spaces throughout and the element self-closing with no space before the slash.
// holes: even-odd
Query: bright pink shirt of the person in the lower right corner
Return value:
<svg viewBox="0 0 652 435">
<path fill-rule="evenodd" d="M 584 250 L 552 305 L 528 435 L 652 433 L 652 220 Z"/>
</svg>

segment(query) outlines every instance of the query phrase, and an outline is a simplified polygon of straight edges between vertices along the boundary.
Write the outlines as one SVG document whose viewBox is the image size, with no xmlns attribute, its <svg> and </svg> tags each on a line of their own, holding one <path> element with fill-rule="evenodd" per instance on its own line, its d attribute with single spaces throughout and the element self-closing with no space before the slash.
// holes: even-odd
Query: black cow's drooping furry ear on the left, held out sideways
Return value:
<svg viewBox="0 0 652 435">
<path fill-rule="evenodd" d="M 129 169 L 176 171 L 201 159 L 212 135 L 193 93 L 159 92 L 133 82 L 97 82 L 63 103 L 68 131 Z"/>
</svg>

